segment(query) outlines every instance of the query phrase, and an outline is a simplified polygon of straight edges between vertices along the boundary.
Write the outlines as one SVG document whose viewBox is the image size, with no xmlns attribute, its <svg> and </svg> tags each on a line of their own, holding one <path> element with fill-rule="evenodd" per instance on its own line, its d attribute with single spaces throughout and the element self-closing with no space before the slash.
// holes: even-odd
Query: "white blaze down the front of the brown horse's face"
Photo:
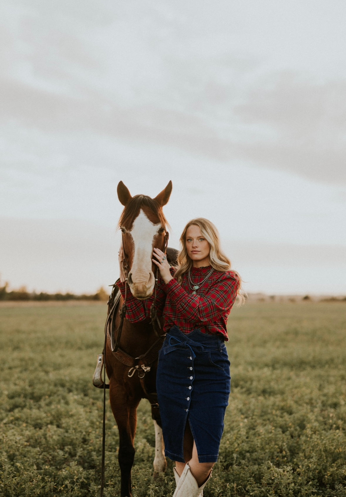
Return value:
<svg viewBox="0 0 346 497">
<path fill-rule="evenodd" d="M 131 293 L 137 298 L 149 297 L 154 289 L 155 277 L 152 271 L 153 240 L 161 229 L 161 223 L 152 223 L 143 210 L 139 211 L 130 231 L 134 254 L 129 283 Z"/>
</svg>

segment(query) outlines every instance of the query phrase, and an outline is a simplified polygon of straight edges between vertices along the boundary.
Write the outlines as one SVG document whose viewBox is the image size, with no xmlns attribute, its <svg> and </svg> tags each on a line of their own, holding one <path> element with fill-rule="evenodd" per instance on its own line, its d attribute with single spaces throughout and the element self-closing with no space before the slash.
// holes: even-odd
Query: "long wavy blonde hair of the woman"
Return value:
<svg viewBox="0 0 346 497">
<path fill-rule="evenodd" d="M 242 290 L 242 278 L 237 273 L 237 271 L 234 271 L 233 269 L 231 270 L 231 261 L 220 247 L 219 232 L 216 226 L 208 219 L 191 219 L 191 221 L 189 221 L 185 226 L 180 237 L 181 250 L 178 253 L 177 257 L 178 269 L 176 270 L 176 273 L 174 275 L 175 279 L 178 283 L 181 284 L 183 275 L 187 273 L 188 270 L 192 267 L 192 260 L 188 256 L 186 250 L 186 231 L 192 225 L 199 227 L 202 236 L 210 245 L 209 264 L 217 271 L 231 271 L 234 274 L 235 278 L 239 281 L 237 296 L 239 298 L 240 304 L 243 304 L 247 295 L 244 290 Z"/>
</svg>

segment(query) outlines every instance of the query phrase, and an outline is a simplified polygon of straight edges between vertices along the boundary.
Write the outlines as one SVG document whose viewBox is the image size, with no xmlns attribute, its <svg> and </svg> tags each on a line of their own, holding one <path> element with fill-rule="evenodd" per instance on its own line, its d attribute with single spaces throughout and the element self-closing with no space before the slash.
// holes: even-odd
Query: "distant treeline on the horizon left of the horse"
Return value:
<svg viewBox="0 0 346 497">
<path fill-rule="evenodd" d="M 47 300 L 108 300 L 108 293 L 101 287 L 95 294 L 93 295 L 75 295 L 73 293 L 47 293 L 47 292 L 28 292 L 26 287 L 21 287 L 18 290 L 8 290 L 8 283 L 5 283 L 4 286 L 0 286 L 0 301 L 4 300 L 38 300 L 38 301 L 47 301 Z"/>
</svg>

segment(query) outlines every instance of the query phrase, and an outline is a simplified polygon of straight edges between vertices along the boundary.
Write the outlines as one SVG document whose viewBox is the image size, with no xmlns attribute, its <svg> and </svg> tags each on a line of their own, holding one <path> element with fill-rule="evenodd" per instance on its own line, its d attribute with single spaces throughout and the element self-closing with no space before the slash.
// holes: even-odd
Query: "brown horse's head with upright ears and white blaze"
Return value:
<svg viewBox="0 0 346 497">
<path fill-rule="evenodd" d="M 132 197 L 122 181 L 117 192 L 124 206 L 118 226 L 127 263 L 127 282 L 134 297 L 147 299 L 155 286 L 157 266 L 152 261 L 153 248 L 164 249 L 167 240 L 168 223 L 162 208 L 170 199 L 172 181 L 155 198 L 147 195 Z"/>
</svg>

